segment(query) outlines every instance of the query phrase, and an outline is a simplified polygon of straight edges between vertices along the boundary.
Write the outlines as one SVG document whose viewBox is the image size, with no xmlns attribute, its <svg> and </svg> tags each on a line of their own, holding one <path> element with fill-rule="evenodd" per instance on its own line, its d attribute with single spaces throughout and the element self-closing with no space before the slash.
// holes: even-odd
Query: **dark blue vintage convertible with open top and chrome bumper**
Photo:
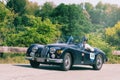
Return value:
<svg viewBox="0 0 120 80">
<path fill-rule="evenodd" d="M 94 48 L 94 51 L 81 48 L 81 43 L 74 43 L 70 37 L 66 43 L 54 43 L 48 45 L 32 44 L 27 52 L 26 59 L 34 68 L 40 64 L 60 65 L 64 71 L 73 65 L 90 65 L 95 70 L 100 70 L 103 63 L 107 61 L 105 53 Z"/>
</svg>

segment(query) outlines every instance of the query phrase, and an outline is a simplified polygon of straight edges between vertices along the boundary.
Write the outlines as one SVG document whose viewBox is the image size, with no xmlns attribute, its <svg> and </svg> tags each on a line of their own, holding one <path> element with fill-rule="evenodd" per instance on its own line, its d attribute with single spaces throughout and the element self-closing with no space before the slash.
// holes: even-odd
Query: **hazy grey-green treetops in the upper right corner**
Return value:
<svg viewBox="0 0 120 80">
<path fill-rule="evenodd" d="M 90 4 L 87 4 L 90 6 Z M 87 7 L 86 6 L 86 7 Z M 120 20 L 120 8 L 117 5 L 103 4 L 99 2 L 95 7 L 87 7 L 90 19 L 93 24 L 100 24 L 105 27 L 114 26 Z"/>
</svg>

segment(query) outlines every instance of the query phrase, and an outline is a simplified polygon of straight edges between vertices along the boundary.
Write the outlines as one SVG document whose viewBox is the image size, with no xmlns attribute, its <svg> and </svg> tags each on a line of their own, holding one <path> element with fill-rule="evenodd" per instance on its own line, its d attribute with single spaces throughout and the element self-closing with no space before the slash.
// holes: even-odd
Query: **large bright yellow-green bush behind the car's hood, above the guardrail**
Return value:
<svg viewBox="0 0 120 80">
<path fill-rule="evenodd" d="M 26 15 L 27 16 L 27 15 Z M 59 25 L 52 24 L 49 19 L 41 21 L 40 17 L 27 16 L 26 27 L 17 26 L 15 33 L 8 34 L 8 46 L 29 46 L 33 43 L 47 44 L 54 42 L 59 36 Z M 20 44 L 19 44 L 20 43 Z"/>
</svg>

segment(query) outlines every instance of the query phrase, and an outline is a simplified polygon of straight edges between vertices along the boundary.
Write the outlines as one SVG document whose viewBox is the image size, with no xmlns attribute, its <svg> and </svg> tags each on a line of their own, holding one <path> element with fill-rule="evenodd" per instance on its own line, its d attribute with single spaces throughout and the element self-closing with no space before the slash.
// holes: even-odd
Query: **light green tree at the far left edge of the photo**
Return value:
<svg viewBox="0 0 120 80">
<path fill-rule="evenodd" d="M 7 34 L 12 32 L 14 14 L 0 2 L 0 45 L 6 43 Z"/>
</svg>

